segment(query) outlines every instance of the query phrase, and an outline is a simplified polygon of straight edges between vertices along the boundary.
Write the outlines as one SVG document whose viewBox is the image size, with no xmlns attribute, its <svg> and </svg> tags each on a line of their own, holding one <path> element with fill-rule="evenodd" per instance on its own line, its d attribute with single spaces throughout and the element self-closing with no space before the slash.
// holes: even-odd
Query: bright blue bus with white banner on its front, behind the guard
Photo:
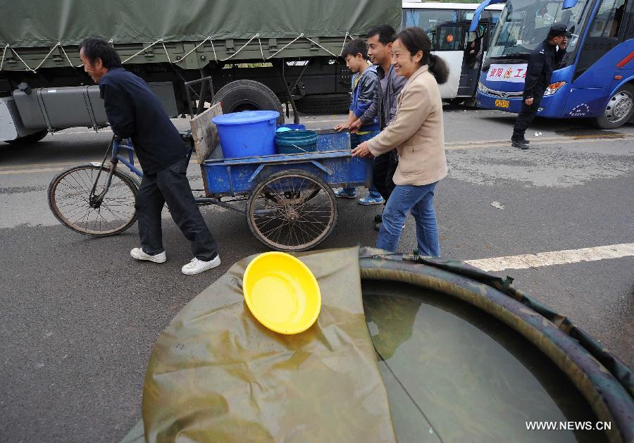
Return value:
<svg viewBox="0 0 634 443">
<path fill-rule="evenodd" d="M 496 0 L 480 4 L 483 10 Z M 528 54 L 555 22 L 573 34 L 537 116 L 634 123 L 634 0 L 507 0 L 478 82 L 480 108 L 521 110 Z M 478 10 L 471 28 L 478 25 Z"/>
</svg>

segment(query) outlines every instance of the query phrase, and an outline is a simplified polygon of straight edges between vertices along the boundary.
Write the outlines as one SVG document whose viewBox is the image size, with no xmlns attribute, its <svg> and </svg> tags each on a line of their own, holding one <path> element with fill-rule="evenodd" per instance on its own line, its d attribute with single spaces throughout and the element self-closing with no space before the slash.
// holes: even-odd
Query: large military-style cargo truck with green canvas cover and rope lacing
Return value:
<svg viewBox="0 0 634 443">
<path fill-rule="evenodd" d="M 78 44 L 101 37 L 148 82 L 172 117 L 222 102 L 225 113 L 347 112 L 345 42 L 382 23 L 401 1 L 1 0 L 0 140 L 35 142 L 68 127 L 107 123 Z M 297 118 L 297 112 L 294 112 Z"/>
</svg>

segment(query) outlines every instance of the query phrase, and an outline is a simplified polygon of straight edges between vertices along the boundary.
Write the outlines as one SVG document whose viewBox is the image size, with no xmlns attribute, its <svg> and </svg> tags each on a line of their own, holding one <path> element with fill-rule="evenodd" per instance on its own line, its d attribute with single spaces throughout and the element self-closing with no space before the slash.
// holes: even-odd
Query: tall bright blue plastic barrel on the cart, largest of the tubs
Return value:
<svg viewBox="0 0 634 443">
<path fill-rule="evenodd" d="M 277 111 L 244 111 L 212 118 L 225 158 L 275 154 L 275 122 L 279 116 Z"/>
</svg>

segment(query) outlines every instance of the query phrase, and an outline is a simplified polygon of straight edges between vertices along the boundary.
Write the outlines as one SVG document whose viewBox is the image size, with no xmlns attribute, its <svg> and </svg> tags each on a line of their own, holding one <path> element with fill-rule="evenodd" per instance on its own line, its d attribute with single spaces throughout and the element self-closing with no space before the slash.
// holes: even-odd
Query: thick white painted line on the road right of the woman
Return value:
<svg viewBox="0 0 634 443">
<path fill-rule="evenodd" d="M 540 252 L 519 256 L 481 258 L 465 263 L 481 270 L 528 269 L 540 266 L 564 265 L 581 261 L 597 261 L 606 258 L 634 256 L 634 243 L 610 244 L 594 248 L 568 249 L 565 251 Z"/>
</svg>

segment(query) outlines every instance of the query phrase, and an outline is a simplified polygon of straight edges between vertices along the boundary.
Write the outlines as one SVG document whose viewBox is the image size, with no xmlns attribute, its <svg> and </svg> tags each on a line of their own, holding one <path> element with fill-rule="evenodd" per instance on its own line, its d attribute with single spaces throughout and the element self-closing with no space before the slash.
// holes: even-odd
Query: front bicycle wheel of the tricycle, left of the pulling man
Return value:
<svg viewBox="0 0 634 443">
<path fill-rule="evenodd" d="M 97 207 L 89 202 L 90 192 L 99 194 L 106 184 L 108 168 L 87 163 L 59 173 L 49 185 L 49 208 L 63 225 L 84 235 L 106 237 L 119 234 L 137 220 L 135 195 L 138 185 L 132 177 L 115 170 L 104 201 Z"/>
</svg>

